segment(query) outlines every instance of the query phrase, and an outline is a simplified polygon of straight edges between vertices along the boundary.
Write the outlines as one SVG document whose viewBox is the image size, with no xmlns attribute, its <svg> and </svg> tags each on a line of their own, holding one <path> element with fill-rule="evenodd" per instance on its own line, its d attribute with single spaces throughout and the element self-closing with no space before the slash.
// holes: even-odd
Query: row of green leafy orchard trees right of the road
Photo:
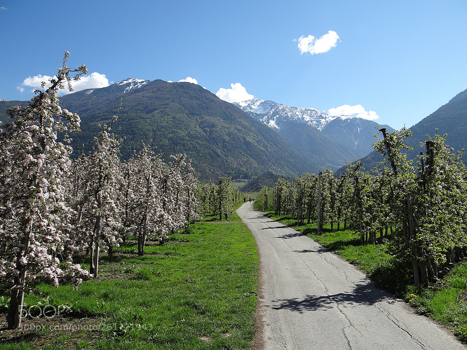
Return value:
<svg viewBox="0 0 467 350">
<path fill-rule="evenodd" d="M 396 256 L 412 261 L 414 283 L 437 280 L 456 259 L 467 254 L 467 172 L 462 152 L 445 144 L 446 135 L 427 136 L 415 161 L 407 159 L 404 143 L 409 129 L 386 133 L 373 144 L 385 158 L 362 172 L 360 161 L 335 177 L 331 170 L 279 179 L 263 188 L 257 200 L 276 214 L 288 214 L 297 225 L 317 223 L 331 229 L 360 232 L 361 244 L 382 243 L 390 237 Z M 390 235 L 388 235 L 388 229 Z M 378 237 L 379 236 L 379 237 Z"/>
</svg>

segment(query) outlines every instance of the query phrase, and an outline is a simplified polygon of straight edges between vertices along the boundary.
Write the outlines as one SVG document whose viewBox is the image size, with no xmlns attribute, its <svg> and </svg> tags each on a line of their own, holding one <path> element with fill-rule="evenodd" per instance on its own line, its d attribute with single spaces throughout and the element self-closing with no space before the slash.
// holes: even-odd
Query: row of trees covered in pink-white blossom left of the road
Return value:
<svg viewBox="0 0 467 350">
<path fill-rule="evenodd" d="M 19 327 L 24 293 L 37 276 L 78 288 L 84 278 L 97 277 L 99 252 L 111 257 L 121 242 L 136 238 L 143 255 L 147 240 L 164 244 L 200 214 L 222 218 L 243 199 L 230 178 L 198 183 L 185 154 L 165 162 L 143 143 L 120 161 L 123 140 L 111 133 L 116 115 L 99 126 L 93 151 L 72 161 L 67 133 L 79 132 L 80 119 L 60 107 L 57 92 L 87 69 L 71 70 L 67 57 L 48 88 L 44 83 L 28 106 L 8 110 L 12 122 L 0 129 L 0 287 L 11 293 L 10 328 Z M 89 271 L 73 262 L 83 253 Z"/>
</svg>

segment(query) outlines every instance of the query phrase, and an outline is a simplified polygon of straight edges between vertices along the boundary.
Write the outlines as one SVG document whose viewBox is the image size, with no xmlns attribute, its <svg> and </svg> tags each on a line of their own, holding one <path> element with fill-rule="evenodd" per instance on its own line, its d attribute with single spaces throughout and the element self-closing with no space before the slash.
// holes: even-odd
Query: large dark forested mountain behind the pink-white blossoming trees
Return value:
<svg viewBox="0 0 467 350">
<path fill-rule="evenodd" d="M 141 140 L 152 140 L 166 159 L 187 154 L 203 180 L 322 169 L 264 123 L 197 84 L 134 78 L 60 97 L 62 108 L 78 113 L 82 121 L 82 132 L 71 135 L 75 156 L 92 149 L 98 125 L 109 122 L 120 98 L 122 108 L 112 130 L 126 137 L 120 147 L 124 159 L 141 149 Z M 7 121 L 5 109 L 26 103 L 0 101 L 0 120 Z"/>
</svg>

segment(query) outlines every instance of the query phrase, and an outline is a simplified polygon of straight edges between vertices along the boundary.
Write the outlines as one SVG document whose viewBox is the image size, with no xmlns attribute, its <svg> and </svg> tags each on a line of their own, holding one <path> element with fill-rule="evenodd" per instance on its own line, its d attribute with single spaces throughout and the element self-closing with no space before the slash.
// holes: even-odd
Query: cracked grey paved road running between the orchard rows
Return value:
<svg viewBox="0 0 467 350">
<path fill-rule="evenodd" d="M 258 348 L 466 349 L 311 238 L 262 216 L 251 203 L 237 213 L 260 254 Z"/>
</svg>

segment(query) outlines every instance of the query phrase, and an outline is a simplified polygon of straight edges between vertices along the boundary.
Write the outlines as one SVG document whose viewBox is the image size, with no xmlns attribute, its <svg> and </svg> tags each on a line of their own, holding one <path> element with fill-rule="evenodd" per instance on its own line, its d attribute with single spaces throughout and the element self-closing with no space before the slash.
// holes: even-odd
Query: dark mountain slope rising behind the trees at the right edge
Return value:
<svg viewBox="0 0 467 350">
<path fill-rule="evenodd" d="M 405 139 L 405 142 L 413 147 L 412 151 L 407 152 L 410 159 L 415 159 L 420 152 L 426 150 L 420 147 L 420 142 L 425 143 L 428 134 L 433 136 L 436 133 L 447 133 L 447 145 L 453 147 L 456 151 L 467 148 L 467 90 L 460 92 L 451 98 L 446 105 L 442 105 L 428 117 L 410 127 L 410 131 L 413 135 Z M 367 171 L 374 168 L 381 160 L 382 156 L 376 151 L 361 158 Z M 462 161 L 467 164 L 467 154 L 464 154 Z M 341 168 L 338 172 L 343 171 L 345 169 Z"/>
</svg>

